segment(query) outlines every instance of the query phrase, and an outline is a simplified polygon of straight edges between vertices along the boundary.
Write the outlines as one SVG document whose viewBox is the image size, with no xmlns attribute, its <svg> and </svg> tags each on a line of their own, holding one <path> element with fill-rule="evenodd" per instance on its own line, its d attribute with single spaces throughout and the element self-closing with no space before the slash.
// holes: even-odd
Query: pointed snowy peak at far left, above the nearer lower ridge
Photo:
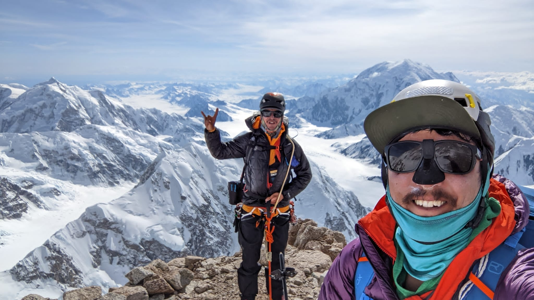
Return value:
<svg viewBox="0 0 534 300">
<path fill-rule="evenodd" d="M 174 135 L 184 117 L 156 109 L 134 109 L 98 90 L 67 86 L 53 77 L 22 93 L 0 110 L 0 132 L 72 132 L 95 124 L 130 128 L 150 135 Z"/>
</svg>

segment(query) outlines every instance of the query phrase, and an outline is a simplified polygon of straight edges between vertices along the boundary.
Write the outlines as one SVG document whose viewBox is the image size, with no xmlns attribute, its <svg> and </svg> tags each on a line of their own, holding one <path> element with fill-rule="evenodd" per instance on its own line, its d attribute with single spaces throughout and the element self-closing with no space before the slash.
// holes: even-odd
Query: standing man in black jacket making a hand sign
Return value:
<svg viewBox="0 0 534 300">
<path fill-rule="evenodd" d="M 274 226 L 271 266 L 276 270 L 280 265 L 279 253 L 284 253 L 287 246 L 289 200 L 302 192 L 311 180 L 306 155 L 300 145 L 287 135 L 285 109 L 282 94 L 264 94 L 260 102 L 260 113 L 245 120 L 250 131 L 226 143 L 221 142 L 220 132 L 215 128 L 218 108 L 213 116 L 206 116 L 202 112 L 206 125 L 206 144 L 211 155 L 219 160 L 245 159 L 243 206 L 237 225 L 243 252 L 238 270 L 241 299 L 254 300 L 258 293 L 257 274 L 261 270 L 258 260 L 264 235 L 265 208 L 272 207 L 270 204 L 279 201 L 279 209 L 271 223 Z M 296 176 L 292 180 L 286 176 L 288 168 L 295 172 Z M 280 281 L 272 280 L 272 296 L 273 300 L 282 299 Z"/>
</svg>

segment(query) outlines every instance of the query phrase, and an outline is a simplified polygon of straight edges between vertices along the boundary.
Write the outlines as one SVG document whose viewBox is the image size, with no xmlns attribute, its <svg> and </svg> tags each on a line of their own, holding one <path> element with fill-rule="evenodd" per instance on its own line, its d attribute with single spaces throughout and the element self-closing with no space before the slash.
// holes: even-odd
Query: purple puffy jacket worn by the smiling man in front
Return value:
<svg viewBox="0 0 534 300">
<path fill-rule="evenodd" d="M 494 175 L 493 179 L 500 181 L 506 186 L 508 195 L 514 202 L 516 225 L 512 232 L 519 232 L 528 223 L 530 209 L 528 200 L 519 187 L 511 180 L 500 175 Z M 534 222 L 534 221 L 533 221 Z M 362 243 L 366 249 L 370 249 L 372 241 L 363 228 L 356 224 L 356 232 L 360 238 L 356 238 L 347 244 L 334 259 L 332 266 L 326 274 L 325 281 L 319 293 L 319 300 L 352 300 L 355 299 L 354 277 L 358 258 L 362 255 Z M 361 239 L 361 241 L 360 241 Z M 369 259 L 384 260 L 380 256 L 387 256 L 379 252 L 368 252 Z M 386 259 L 387 260 L 387 259 Z M 374 300 L 398 300 L 397 294 L 392 290 L 392 266 L 391 262 L 378 266 L 375 277 L 366 288 L 365 293 Z M 462 276 L 465 276 L 464 274 Z M 389 281 L 388 283 L 384 281 Z M 393 286 L 394 287 L 394 286 Z M 458 287 L 451 287 L 458 288 Z M 534 248 L 519 251 L 512 263 L 502 272 L 502 275 L 494 291 L 493 299 L 509 300 L 534 300 Z"/>
</svg>

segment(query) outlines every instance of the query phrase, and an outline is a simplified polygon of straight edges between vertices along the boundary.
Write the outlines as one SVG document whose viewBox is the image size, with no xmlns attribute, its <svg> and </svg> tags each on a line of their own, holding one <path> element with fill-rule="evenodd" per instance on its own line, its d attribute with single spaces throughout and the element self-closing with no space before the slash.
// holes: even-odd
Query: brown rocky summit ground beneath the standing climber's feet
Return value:
<svg viewBox="0 0 534 300">
<path fill-rule="evenodd" d="M 286 266 L 294 267 L 297 274 L 288 278 L 288 294 L 294 300 L 317 299 L 324 276 L 332 260 L 347 244 L 342 233 L 317 227 L 311 219 L 299 219 L 289 227 L 286 248 Z M 262 249 L 260 263 L 267 266 Z M 205 258 L 178 257 L 164 262 L 155 259 L 125 274 L 129 282 L 119 288 L 110 288 L 102 295 L 98 286 L 70 290 L 64 300 L 219 300 L 239 298 L 237 270 L 241 252 L 233 256 Z M 278 269 L 278 268 L 273 268 Z M 258 275 L 259 294 L 256 299 L 267 300 L 264 272 Z M 22 300 L 49 300 L 35 294 Z M 52 299 L 50 299 L 52 300 Z"/>
</svg>

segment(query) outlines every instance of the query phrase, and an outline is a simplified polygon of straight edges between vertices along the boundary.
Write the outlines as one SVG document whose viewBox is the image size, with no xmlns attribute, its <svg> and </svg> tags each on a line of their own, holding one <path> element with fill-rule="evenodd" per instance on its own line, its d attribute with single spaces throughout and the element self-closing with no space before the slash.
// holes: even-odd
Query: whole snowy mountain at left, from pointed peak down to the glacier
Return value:
<svg viewBox="0 0 534 300">
<path fill-rule="evenodd" d="M 22 164 L 20 170 L 83 185 L 133 182 L 159 153 L 162 138 L 189 143 L 202 130 L 182 116 L 135 109 L 53 78 L 4 104 L 2 165 Z"/>
</svg>

